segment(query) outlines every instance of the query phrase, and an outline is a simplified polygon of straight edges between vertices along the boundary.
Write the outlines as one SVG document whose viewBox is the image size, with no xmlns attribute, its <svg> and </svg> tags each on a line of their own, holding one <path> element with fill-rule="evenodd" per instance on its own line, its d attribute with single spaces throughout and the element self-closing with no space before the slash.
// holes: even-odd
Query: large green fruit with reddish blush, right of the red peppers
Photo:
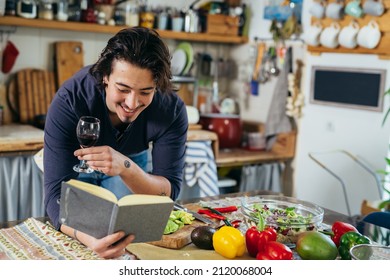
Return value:
<svg viewBox="0 0 390 280">
<path fill-rule="evenodd" d="M 334 242 L 318 231 L 306 231 L 298 235 L 296 251 L 304 260 L 334 260 L 338 250 Z"/>
</svg>

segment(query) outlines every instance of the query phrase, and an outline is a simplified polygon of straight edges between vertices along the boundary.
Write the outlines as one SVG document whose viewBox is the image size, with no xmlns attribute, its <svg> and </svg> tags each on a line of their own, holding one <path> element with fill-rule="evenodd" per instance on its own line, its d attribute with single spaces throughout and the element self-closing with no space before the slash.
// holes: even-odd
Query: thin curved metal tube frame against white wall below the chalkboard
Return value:
<svg viewBox="0 0 390 280">
<path fill-rule="evenodd" d="M 320 167 L 322 167 L 325 171 L 327 171 L 330 175 L 335 177 L 340 182 L 340 186 L 341 186 L 342 191 L 343 191 L 344 200 L 345 200 L 345 204 L 346 204 L 349 216 L 352 216 L 351 215 L 351 207 L 350 207 L 350 204 L 349 204 L 349 199 L 348 199 L 348 194 L 347 194 L 347 187 L 346 187 L 346 184 L 345 184 L 344 180 L 339 175 L 337 175 L 334 172 L 334 169 L 331 169 L 330 167 L 326 166 L 323 163 L 323 161 L 320 161 L 319 158 L 318 158 L 318 156 L 321 155 L 321 154 L 331 154 L 331 153 L 341 153 L 341 154 L 344 154 L 349 159 L 351 159 L 352 161 L 357 163 L 363 170 L 365 170 L 367 173 L 369 173 L 370 176 L 374 177 L 376 185 L 377 185 L 377 190 L 378 190 L 378 193 L 379 193 L 379 197 L 381 199 L 383 198 L 383 192 L 382 192 L 382 187 L 381 187 L 381 178 L 374 170 L 372 170 L 372 168 L 364 161 L 363 158 L 361 158 L 359 156 L 355 156 L 355 155 L 353 155 L 350 152 L 345 151 L 345 150 L 334 150 L 334 151 L 326 151 L 326 152 L 309 152 L 309 158 L 310 159 L 312 159 L 315 163 L 317 163 Z"/>
</svg>

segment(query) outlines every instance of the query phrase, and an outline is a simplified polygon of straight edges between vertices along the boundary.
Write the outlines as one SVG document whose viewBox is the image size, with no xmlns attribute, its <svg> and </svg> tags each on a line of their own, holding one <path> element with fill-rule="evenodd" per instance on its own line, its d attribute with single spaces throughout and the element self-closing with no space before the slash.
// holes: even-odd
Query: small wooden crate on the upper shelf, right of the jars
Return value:
<svg viewBox="0 0 390 280">
<path fill-rule="evenodd" d="M 239 17 L 227 15 L 207 15 L 206 33 L 236 36 L 238 34 L 239 20 Z"/>
</svg>

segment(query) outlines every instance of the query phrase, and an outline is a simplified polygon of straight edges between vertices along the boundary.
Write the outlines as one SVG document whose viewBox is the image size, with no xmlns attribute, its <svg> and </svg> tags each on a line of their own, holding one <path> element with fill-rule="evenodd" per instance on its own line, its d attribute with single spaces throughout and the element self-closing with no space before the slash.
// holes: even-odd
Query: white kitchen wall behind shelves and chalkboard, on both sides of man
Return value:
<svg viewBox="0 0 390 280">
<path fill-rule="evenodd" d="M 152 3 L 153 2 L 153 3 Z M 173 2 L 173 3 L 171 3 Z M 171 1 L 153 0 L 151 4 L 162 3 L 171 4 L 176 7 L 185 7 L 192 1 Z M 270 22 L 263 20 L 264 2 L 258 0 L 243 1 L 252 9 L 250 43 L 253 38 L 270 38 Z M 304 27 L 308 26 L 310 18 L 307 10 L 311 1 L 304 1 Z M 183 6 L 181 6 L 183 5 Z M 109 34 L 92 34 L 88 32 L 68 32 L 49 29 L 34 29 L 18 27 L 17 32 L 12 34 L 10 39 L 20 50 L 20 56 L 13 69 L 25 67 L 42 67 L 53 69 L 52 43 L 60 40 L 78 40 L 83 42 L 84 63 L 93 63 L 106 41 Z M 175 42 L 168 40 L 170 48 L 174 48 Z M 309 152 L 326 151 L 333 149 L 346 149 L 353 154 L 365 158 L 374 170 L 383 169 L 385 166 L 384 157 L 388 148 L 390 122 L 385 127 L 381 127 L 384 117 L 383 112 L 370 112 L 366 110 L 347 109 L 341 107 L 314 105 L 309 102 L 310 69 L 312 65 L 326 65 L 337 67 L 359 67 L 359 68 L 381 68 L 390 70 L 390 62 L 380 60 L 375 55 L 352 55 L 352 54 L 322 54 L 312 56 L 306 52 L 305 46 L 300 42 L 289 42 L 294 45 L 294 52 L 297 57 L 302 57 L 305 63 L 304 77 L 302 81 L 303 93 L 306 105 L 304 116 L 299 121 L 299 134 L 297 141 L 297 154 L 294 162 L 295 166 L 295 195 L 298 198 L 309 200 L 324 207 L 346 213 L 346 206 L 343 200 L 342 191 L 338 187 L 337 181 L 327 174 L 321 167 L 308 157 Z M 218 46 L 215 44 L 193 43 L 197 51 L 209 51 L 226 56 L 228 46 Z M 251 63 L 248 61 L 249 45 L 233 46 L 231 56 L 239 65 Z M 49 55 L 48 55 L 49 53 Z M 253 62 L 252 62 L 253 63 Z M 390 71 L 387 73 L 386 88 L 390 87 Z M 7 79 L 7 75 L 0 75 L 0 80 Z M 236 80 L 230 86 L 222 88 L 225 94 L 235 96 L 241 104 L 243 119 L 265 121 L 268 114 L 268 106 L 272 99 L 273 82 L 265 84 L 260 88 L 259 96 L 251 96 L 245 92 L 245 82 Z M 249 106 L 245 107 L 245 99 Z M 389 100 L 385 99 L 384 107 L 390 106 Z M 329 167 L 337 167 L 349 177 L 357 178 L 361 174 L 362 179 L 352 184 L 356 191 L 349 193 L 353 213 L 359 212 L 362 197 L 375 199 L 376 186 L 374 182 L 364 183 L 364 188 L 357 187 L 357 183 L 370 179 L 370 175 L 364 172 L 352 171 L 350 163 L 343 166 L 337 165 L 341 161 L 333 161 Z"/>
</svg>

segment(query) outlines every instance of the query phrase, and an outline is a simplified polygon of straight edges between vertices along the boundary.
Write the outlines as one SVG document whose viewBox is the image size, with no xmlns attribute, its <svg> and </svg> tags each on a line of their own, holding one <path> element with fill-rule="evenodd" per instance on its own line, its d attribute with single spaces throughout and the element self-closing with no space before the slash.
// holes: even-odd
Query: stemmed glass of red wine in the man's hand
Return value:
<svg viewBox="0 0 390 280">
<path fill-rule="evenodd" d="M 77 139 L 81 148 L 92 147 L 96 144 L 100 133 L 100 120 L 95 117 L 82 116 L 79 119 L 76 128 Z M 81 160 L 80 164 L 73 166 L 73 170 L 79 173 L 92 173 L 94 170 L 90 168 L 85 160 Z"/>
</svg>

